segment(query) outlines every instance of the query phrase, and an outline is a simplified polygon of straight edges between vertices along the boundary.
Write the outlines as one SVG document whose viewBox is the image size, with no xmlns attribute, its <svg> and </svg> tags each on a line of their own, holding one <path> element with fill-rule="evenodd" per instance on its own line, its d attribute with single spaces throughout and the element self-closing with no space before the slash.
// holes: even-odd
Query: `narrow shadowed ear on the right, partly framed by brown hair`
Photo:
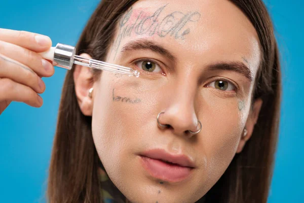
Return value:
<svg viewBox="0 0 304 203">
<path fill-rule="evenodd" d="M 259 112 L 262 107 L 262 104 L 263 104 L 263 101 L 260 98 L 258 98 L 254 101 L 253 108 L 249 113 L 249 116 L 248 116 L 248 119 L 247 119 L 247 122 L 245 125 L 245 128 L 247 129 L 247 134 L 246 134 L 246 136 L 244 136 L 244 130 L 243 130 L 242 137 L 241 137 L 241 140 L 240 140 L 236 153 L 242 152 L 246 142 L 251 138 L 254 126 L 257 122 L 258 115 L 259 115 Z"/>
</svg>

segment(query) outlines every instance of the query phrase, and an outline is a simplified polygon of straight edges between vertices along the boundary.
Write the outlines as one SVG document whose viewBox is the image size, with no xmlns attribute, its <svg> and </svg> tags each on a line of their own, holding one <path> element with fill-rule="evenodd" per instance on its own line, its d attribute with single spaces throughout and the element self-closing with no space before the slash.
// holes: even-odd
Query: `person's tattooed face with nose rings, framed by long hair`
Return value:
<svg viewBox="0 0 304 203">
<path fill-rule="evenodd" d="M 111 181 L 132 202 L 201 198 L 236 154 L 259 61 L 256 31 L 229 1 L 134 4 L 117 25 L 107 62 L 140 77 L 103 72 L 94 86 L 93 138 Z M 158 127 L 160 112 L 168 128 Z M 202 130 L 189 136 L 198 120 Z M 155 149 L 193 165 L 176 167 L 183 176 L 155 174 L 141 156 Z"/>
</svg>

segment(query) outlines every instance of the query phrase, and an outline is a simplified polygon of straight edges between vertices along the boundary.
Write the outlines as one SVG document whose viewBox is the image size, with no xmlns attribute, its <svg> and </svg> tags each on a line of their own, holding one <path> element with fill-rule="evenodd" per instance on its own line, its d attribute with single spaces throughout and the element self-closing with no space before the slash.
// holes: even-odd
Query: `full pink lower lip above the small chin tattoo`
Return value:
<svg viewBox="0 0 304 203">
<path fill-rule="evenodd" d="M 180 182 L 186 179 L 192 171 L 191 167 L 169 164 L 164 161 L 145 156 L 140 157 L 143 167 L 151 176 L 167 182 Z"/>
</svg>

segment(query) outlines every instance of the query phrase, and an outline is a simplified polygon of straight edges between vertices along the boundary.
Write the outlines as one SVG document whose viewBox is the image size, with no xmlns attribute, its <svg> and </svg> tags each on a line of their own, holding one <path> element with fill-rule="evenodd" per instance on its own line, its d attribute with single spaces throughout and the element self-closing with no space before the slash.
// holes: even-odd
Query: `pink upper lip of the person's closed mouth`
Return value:
<svg viewBox="0 0 304 203">
<path fill-rule="evenodd" d="M 185 167 L 195 167 L 194 162 L 184 154 L 170 154 L 163 149 L 152 149 L 141 154 L 153 159 L 175 163 Z"/>
</svg>

